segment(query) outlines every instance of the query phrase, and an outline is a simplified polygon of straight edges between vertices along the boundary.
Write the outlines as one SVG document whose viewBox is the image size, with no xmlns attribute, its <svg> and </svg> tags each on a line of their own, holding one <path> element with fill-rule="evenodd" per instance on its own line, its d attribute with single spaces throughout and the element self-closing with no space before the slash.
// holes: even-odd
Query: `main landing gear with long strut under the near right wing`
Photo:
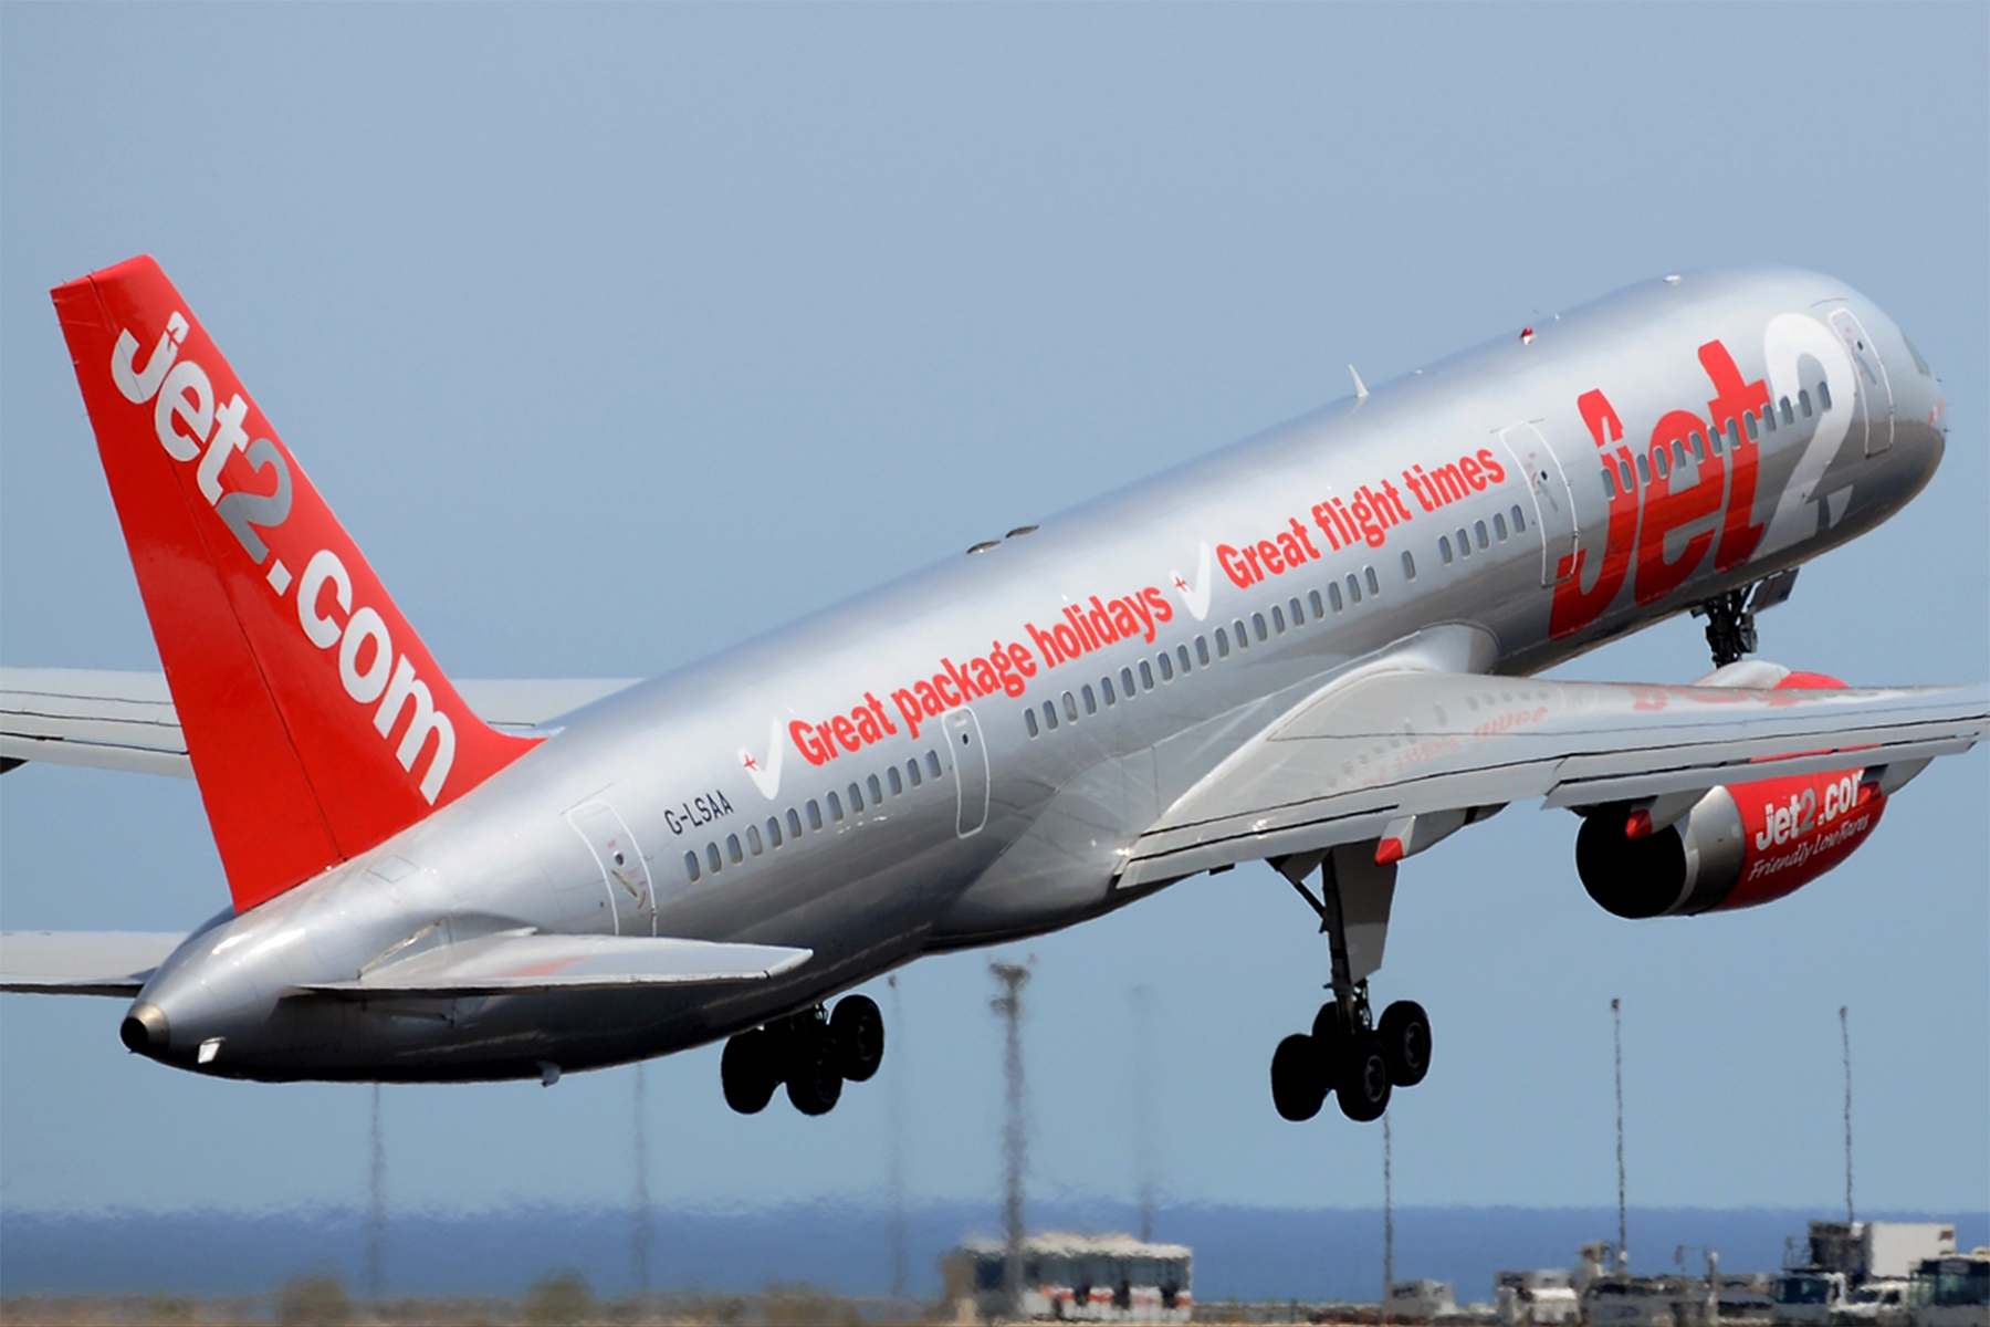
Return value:
<svg viewBox="0 0 1990 1327">
<path fill-rule="evenodd" d="M 1431 1019 L 1423 1005 L 1397 1001 L 1369 1015 L 1367 979 L 1381 967 L 1395 897 L 1395 863 L 1375 863 L 1375 844 L 1349 844 L 1272 863 L 1319 913 L 1333 957 L 1333 999 L 1319 1007 L 1309 1033 L 1278 1043 L 1272 1054 L 1272 1104 L 1288 1120 L 1311 1120 L 1327 1092 L 1349 1120 L 1379 1120 L 1395 1088 L 1431 1072 Z M 1305 877 L 1319 867 L 1319 895 Z"/>
</svg>

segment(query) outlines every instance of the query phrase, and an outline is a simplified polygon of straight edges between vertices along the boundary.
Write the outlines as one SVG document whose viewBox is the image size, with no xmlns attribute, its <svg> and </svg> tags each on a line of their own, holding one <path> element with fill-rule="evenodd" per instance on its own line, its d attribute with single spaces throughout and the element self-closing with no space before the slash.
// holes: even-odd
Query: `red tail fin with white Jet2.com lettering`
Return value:
<svg viewBox="0 0 1990 1327">
<path fill-rule="evenodd" d="M 237 909 L 531 748 L 462 702 L 157 263 L 54 300 Z"/>
</svg>

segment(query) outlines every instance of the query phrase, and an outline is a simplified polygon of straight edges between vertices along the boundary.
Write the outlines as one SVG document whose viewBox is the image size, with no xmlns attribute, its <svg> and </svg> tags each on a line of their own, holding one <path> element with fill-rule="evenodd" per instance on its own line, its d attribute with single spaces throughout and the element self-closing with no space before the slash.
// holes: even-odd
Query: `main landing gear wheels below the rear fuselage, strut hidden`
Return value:
<svg viewBox="0 0 1990 1327">
<path fill-rule="evenodd" d="M 868 995 L 846 995 L 836 1013 L 822 1005 L 740 1033 L 726 1043 L 718 1080 L 726 1104 L 758 1114 L 788 1084 L 788 1100 L 802 1114 L 828 1114 L 844 1094 L 844 1080 L 866 1082 L 884 1062 L 884 1015 Z"/>
</svg>

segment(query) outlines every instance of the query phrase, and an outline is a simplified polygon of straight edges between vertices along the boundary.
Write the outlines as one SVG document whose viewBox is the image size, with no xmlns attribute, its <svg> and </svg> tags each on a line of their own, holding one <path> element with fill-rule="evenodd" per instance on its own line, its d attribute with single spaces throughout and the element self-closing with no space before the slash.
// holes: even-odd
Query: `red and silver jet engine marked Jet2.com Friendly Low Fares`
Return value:
<svg viewBox="0 0 1990 1327">
<path fill-rule="evenodd" d="M 1763 684 L 1763 670 L 1779 674 L 1775 686 L 1845 684 L 1763 663 L 1731 664 L 1699 684 Z M 1618 917 L 1769 903 L 1845 861 L 1879 826 L 1887 798 L 1922 766 L 1855 766 L 1727 784 L 1682 802 L 1598 806 L 1576 834 L 1576 873 Z"/>
</svg>

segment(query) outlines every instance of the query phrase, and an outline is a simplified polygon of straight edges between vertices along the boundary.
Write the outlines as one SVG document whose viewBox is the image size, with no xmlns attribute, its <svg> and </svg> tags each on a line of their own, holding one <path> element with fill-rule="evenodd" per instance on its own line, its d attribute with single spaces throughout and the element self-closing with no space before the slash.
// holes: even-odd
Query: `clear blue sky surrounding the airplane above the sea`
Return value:
<svg viewBox="0 0 1990 1327">
<path fill-rule="evenodd" d="M 1980 8 L 1301 6 L 0 10 L 0 661 L 155 666 L 48 288 L 153 253 L 460 676 L 649 674 L 1347 392 L 1668 271 L 1793 263 L 1942 376 L 1934 485 L 1805 569 L 1763 655 L 1980 680 L 1990 127 Z M 1666 623 L 1570 674 L 1682 680 Z M 1986 756 L 1930 770 L 1789 901 L 1624 923 L 1576 822 L 1514 808 L 1405 867 L 1385 999 L 1415 1204 L 1978 1208 Z M 191 784 L 0 780 L 0 925 L 225 903 Z M 1270 869 L 1035 955 L 1033 1186 L 1357 1206 L 1381 1136 L 1278 1120 L 1317 1001 Z M 987 955 L 901 975 L 886 1080 L 736 1118 L 649 1068 L 665 1204 L 993 1194 Z M 882 989 L 880 989 L 880 995 Z M 360 1202 L 366 1088 L 127 1056 L 109 1001 L 0 999 L 0 1206 Z M 396 1204 L 623 1200 L 633 1070 L 392 1088 Z"/>
</svg>

